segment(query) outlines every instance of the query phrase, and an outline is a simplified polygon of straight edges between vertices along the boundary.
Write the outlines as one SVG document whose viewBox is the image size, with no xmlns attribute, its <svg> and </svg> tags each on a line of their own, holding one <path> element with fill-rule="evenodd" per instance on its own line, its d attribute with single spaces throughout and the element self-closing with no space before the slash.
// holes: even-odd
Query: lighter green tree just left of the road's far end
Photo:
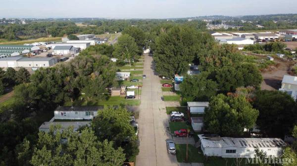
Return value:
<svg viewBox="0 0 297 166">
<path fill-rule="evenodd" d="M 122 60 L 127 60 L 129 65 L 134 60 L 135 56 L 139 52 L 139 48 L 135 42 L 135 39 L 129 34 L 123 34 L 118 38 L 118 42 L 114 44 L 113 55 Z"/>
</svg>

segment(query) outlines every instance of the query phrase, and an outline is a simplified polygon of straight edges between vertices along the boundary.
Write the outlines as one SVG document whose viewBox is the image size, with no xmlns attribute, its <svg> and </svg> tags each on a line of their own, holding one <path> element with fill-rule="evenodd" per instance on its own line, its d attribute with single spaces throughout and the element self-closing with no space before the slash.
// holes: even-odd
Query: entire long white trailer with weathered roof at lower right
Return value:
<svg viewBox="0 0 297 166">
<path fill-rule="evenodd" d="M 286 143 L 280 138 L 232 138 L 198 135 L 204 156 L 223 158 L 254 158 L 255 148 L 267 156 L 279 157 Z"/>
</svg>

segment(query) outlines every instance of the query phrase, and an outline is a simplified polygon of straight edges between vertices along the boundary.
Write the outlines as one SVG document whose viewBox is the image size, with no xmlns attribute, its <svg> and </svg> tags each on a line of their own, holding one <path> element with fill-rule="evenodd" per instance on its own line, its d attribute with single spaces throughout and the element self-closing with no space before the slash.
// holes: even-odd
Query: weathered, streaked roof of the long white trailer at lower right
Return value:
<svg viewBox="0 0 297 166">
<path fill-rule="evenodd" d="M 198 135 L 202 146 L 210 148 L 222 147 L 283 147 L 286 143 L 280 138 L 232 138 L 232 137 L 211 137 Z"/>
</svg>

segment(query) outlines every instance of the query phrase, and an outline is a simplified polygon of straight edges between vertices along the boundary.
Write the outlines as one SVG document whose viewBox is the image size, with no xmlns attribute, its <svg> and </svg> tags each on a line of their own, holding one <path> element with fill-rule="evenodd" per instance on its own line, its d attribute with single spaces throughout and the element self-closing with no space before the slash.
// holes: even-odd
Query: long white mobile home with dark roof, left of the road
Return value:
<svg viewBox="0 0 297 166">
<path fill-rule="evenodd" d="M 54 113 L 54 119 L 92 120 L 103 106 L 59 106 Z"/>
</svg>

